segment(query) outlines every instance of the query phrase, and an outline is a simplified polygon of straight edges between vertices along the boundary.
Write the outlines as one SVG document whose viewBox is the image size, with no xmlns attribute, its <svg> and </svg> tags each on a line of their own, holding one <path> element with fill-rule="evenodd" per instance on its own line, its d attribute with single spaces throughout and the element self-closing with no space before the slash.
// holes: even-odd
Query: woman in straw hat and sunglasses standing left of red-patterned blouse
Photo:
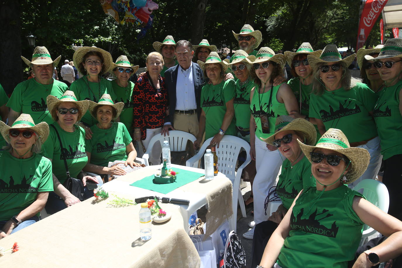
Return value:
<svg viewBox="0 0 402 268">
<path fill-rule="evenodd" d="M 113 91 L 116 94 L 116 102 L 123 102 L 124 108 L 120 115 L 120 122 L 123 123 L 130 135 L 133 135 L 133 90 L 134 83 L 129 81 L 130 76 L 137 72 L 139 65 L 131 66 L 125 55 L 117 58 L 113 63 L 116 79 L 112 81 Z"/>
</svg>

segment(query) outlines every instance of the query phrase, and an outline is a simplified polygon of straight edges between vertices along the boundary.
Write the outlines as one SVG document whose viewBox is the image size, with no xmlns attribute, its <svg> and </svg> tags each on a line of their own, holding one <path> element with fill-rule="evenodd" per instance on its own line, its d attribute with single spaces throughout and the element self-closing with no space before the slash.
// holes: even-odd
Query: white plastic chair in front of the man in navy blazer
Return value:
<svg viewBox="0 0 402 268">
<path fill-rule="evenodd" d="M 157 134 L 150 140 L 148 144 L 147 151 L 144 153 L 142 158 L 145 161 L 145 166 L 149 166 L 149 155 L 152 152 L 152 147 L 159 141 L 160 146 L 162 146 L 163 141 L 168 141 L 170 145 L 170 151 L 185 151 L 187 147 L 187 141 L 194 142 L 197 138 L 193 134 L 187 133 L 185 131 L 171 130 L 169 135 L 166 137 L 164 135 Z M 160 164 L 160 163 L 158 163 Z"/>
</svg>

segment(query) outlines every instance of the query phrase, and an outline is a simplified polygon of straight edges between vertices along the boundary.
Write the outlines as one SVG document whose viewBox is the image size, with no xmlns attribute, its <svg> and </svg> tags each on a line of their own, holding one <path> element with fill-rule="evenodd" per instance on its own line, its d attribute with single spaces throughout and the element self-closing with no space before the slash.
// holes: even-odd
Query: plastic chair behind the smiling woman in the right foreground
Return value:
<svg viewBox="0 0 402 268">
<path fill-rule="evenodd" d="M 388 193 L 387 186 L 378 180 L 365 179 L 361 180 L 353 190 L 359 191 L 363 189 L 363 195 L 373 205 L 388 213 L 388 207 L 390 206 L 390 195 Z M 363 226 L 362 239 L 360 245 L 363 245 L 365 238 L 373 235 L 376 231 L 368 225 Z"/>
</svg>

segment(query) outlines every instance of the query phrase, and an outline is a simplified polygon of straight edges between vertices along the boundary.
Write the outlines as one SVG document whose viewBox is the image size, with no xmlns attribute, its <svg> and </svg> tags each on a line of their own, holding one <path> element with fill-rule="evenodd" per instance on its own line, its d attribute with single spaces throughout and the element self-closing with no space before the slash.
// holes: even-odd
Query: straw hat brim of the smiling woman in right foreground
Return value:
<svg viewBox="0 0 402 268">
<path fill-rule="evenodd" d="M 301 141 L 299 141 L 299 139 L 297 139 L 297 142 L 299 143 L 301 150 L 306 155 L 310 163 L 312 162 L 310 153 L 316 148 L 330 149 L 344 154 L 351 161 L 349 171 L 346 174 L 346 184 L 354 182 L 355 180 L 360 178 L 360 176 L 363 175 L 363 173 L 366 171 L 367 166 L 370 162 L 370 154 L 366 149 L 363 148 L 339 148 L 339 146 L 333 143 L 320 143 L 320 145 L 318 146 L 311 146 L 302 143 Z"/>
</svg>

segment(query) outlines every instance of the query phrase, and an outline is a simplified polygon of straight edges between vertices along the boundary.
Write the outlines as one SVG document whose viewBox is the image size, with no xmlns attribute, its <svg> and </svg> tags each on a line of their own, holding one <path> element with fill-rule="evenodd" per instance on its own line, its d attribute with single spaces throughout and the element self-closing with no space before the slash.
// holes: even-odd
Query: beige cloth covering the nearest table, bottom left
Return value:
<svg viewBox="0 0 402 268">
<path fill-rule="evenodd" d="M 107 199 L 93 201 L 90 198 L 0 239 L 0 247 L 11 248 L 14 242 L 20 246 L 18 252 L 0 257 L 0 267 L 200 267 L 177 206 L 161 204 L 172 218 L 152 224 L 152 238 L 143 243 L 139 205 L 109 207 Z"/>
</svg>

